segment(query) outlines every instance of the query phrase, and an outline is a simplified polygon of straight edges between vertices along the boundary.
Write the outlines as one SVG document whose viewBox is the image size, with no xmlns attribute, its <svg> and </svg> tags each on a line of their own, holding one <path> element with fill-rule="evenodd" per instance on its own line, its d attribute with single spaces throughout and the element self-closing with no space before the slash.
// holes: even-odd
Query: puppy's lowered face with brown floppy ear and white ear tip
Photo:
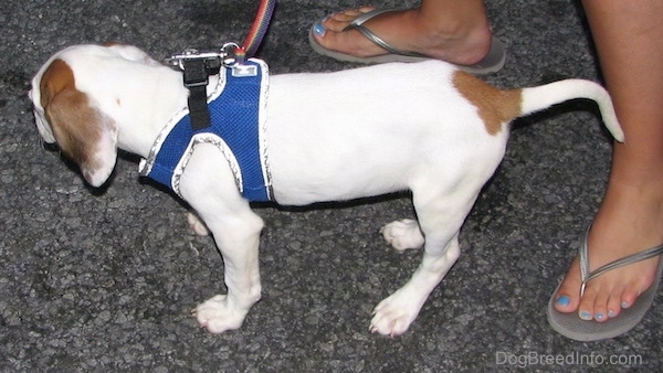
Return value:
<svg viewBox="0 0 663 373">
<path fill-rule="evenodd" d="M 117 126 L 80 90 L 71 56 L 55 55 L 32 79 L 30 98 L 36 127 L 44 141 L 56 142 L 81 167 L 85 180 L 101 186 L 117 158 Z"/>
</svg>

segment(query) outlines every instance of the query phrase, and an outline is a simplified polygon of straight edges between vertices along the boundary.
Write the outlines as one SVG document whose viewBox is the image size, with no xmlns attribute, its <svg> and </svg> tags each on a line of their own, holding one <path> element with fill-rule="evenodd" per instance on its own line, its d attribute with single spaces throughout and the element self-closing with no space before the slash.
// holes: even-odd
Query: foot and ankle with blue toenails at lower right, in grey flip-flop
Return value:
<svg viewBox="0 0 663 373">
<path fill-rule="evenodd" d="M 588 235 L 590 271 L 663 243 L 661 185 L 612 183 Z M 614 268 L 587 283 L 581 295 L 576 258 L 555 296 L 559 312 L 578 312 L 582 320 L 606 322 L 631 308 L 656 280 L 660 257 Z"/>
</svg>

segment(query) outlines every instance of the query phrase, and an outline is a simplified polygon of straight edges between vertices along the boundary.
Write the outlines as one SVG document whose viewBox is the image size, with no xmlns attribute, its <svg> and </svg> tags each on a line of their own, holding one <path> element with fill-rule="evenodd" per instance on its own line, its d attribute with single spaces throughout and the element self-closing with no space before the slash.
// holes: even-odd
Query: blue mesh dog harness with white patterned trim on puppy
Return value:
<svg viewBox="0 0 663 373">
<path fill-rule="evenodd" d="M 175 191 L 201 142 L 217 146 L 232 169 L 240 193 L 249 201 L 271 201 L 267 168 L 265 106 L 267 65 L 250 58 L 232 68 L 221 68 L 219 84 L 208 95 L 210 127 L 194 130 L 188 108 L 182 108 L 157 137 L 140 175 Z"/>
</svg>

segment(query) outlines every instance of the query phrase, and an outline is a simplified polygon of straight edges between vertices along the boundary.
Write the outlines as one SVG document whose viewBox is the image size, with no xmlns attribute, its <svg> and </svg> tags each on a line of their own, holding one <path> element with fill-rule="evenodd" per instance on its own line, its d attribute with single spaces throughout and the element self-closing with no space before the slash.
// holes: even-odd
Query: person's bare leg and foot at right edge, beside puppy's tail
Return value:
<svg viewBox="0 0 663 373">
<path fill-rule="evenodd" d="M 663 2 L 585 0 L 625 142 L 615 143 L 604 199 L 588 236 L 590 269 L 663 243 Z M 580 296 L 576 259 L 555 308 L 585 320 L 619 317 L 655 280 L 659 258 L 610 270 Z M 608 321 L 610 322 L 610 321 Z"/>
</svg>

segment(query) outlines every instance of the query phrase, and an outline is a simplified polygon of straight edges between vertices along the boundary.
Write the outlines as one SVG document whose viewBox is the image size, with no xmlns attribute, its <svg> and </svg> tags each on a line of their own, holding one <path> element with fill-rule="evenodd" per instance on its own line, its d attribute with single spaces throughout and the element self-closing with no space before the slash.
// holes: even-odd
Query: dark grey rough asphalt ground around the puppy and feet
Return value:
<svg viewBox="0 0 663 373">
<path fill-rule="evenodd" d="M 372 307 L 420 260 L 418 252 L 390 249 L 378 233 L 413 216 L 407 194 L 311 209 L 257 205 L 266 222 L 263 299 L 241 330 L 201 330 L 190 310 L 224 290 L 212 239 L 188 231 L 182 205 L 140 180 L 134 157 L 122 157 L 107 189 L 86 186 L 75 167 L 40 141 L 27 92 L 39 66 L 71 44 L 117 41 L 162 57 L 242 41 L 257 1 L 17 4 L 0 6 L 0 371 L 644 371 L 663 364 L 660 300 L 641 324 L 609 341 L 575 342 L 546 321 L 548 297 L 597 210 L 610 164 L 611 141 L 585 103 L 516 122 L 502 167 L 462 230 L 461 259 L 407 334 L 368 331 Z M 313 53 L 306 35 L 314 20 L 357 4 L 280 1 L 259 55 L 273 74 L 352 67 Z M 508 47 L 507 64 L 491 83 L 600 79 L 578 3 L 486 6 Z"/>
</svg>

